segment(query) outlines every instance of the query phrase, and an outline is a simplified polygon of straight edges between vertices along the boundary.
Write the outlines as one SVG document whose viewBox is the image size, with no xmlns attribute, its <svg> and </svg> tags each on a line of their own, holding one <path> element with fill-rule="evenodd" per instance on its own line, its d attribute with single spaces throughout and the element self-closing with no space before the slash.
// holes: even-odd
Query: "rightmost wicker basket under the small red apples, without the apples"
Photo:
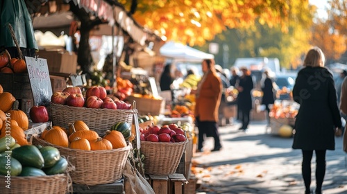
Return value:
<svg viewBox="0 0 347 194">
<path fill-rule="evenodd" d="M 177 143 L 141 141 L 144 173 L 148 175 L 174 174 L 187 143 L 188 139 Z"/>
</svg>

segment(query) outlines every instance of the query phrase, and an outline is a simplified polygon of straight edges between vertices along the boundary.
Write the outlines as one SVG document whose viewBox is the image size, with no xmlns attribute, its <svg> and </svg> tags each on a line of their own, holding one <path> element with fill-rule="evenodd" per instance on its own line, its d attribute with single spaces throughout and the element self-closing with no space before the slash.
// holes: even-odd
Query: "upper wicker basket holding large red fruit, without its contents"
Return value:
<svg viewBox="0 0 347 194">
<path fill-rule="evenodd" d="M 131 126 L 135 112 L 137 109 L 92 109 L 49 104 L 49 119 L 52 121 L 52 125 L 68 128 L 69 123 L 83 121 L 98 134 L 105 134 L 105 131 L 110 130 L 112 125 L 121 121 L 125 121 Z"/>
</svg>

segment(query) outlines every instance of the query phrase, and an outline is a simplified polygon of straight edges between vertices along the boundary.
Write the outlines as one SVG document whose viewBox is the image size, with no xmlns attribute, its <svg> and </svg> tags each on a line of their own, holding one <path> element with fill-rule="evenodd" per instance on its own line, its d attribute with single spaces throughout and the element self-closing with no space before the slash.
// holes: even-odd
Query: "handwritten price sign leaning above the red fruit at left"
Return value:
<svg viewBox="0 0 347 194">
<path fill-rule="evenodd" d="M 51 101 L 52 86 L 47 60 L 25 57 L 28 76 L 33 91 L 34 106 L 47 106 Z"/>
</svg>

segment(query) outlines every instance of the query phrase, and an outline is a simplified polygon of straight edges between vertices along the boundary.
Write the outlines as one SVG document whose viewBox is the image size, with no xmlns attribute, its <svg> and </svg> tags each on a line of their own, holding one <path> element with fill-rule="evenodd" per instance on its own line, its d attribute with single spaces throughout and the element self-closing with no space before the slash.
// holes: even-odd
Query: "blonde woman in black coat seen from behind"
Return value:
<svg viewBox="0 0 347 194">
<path fill-rule="evenodd" d="M 308 51 L 304 68 L 298 72 L 293 98 L 300 104 L 292 148 L 303 152 L 302 175 L 305 193 L 310 193 L 311 159 L 316 153 L 316 193 L 321 193 L 326 150 L 335 150 L 335 128 L 341 127 L 332 74 L 324 67 L 320 48 Z"/>
</svg>

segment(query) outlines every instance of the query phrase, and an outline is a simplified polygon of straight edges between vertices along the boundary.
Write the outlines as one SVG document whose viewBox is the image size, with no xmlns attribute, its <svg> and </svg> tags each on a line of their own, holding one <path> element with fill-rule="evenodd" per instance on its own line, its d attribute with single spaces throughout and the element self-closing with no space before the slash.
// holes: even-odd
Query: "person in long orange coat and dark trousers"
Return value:
<svg viewBox="0 0 347 194">
<path fill-rule="evenodd" d="M 214 60 L 205 59 L 202 62 L 203 78 L 198 82 L 198 89 L 192 91 L 196 94 L 194 115 L 198 126 L 198 149 L 203 148 L 205 136 L 213 136 L 214 148 L 221 150 L 221 141 L 218 132 L 218 108 L 221 103 L 221 78 L 214 69 Z"/>
</svg>

